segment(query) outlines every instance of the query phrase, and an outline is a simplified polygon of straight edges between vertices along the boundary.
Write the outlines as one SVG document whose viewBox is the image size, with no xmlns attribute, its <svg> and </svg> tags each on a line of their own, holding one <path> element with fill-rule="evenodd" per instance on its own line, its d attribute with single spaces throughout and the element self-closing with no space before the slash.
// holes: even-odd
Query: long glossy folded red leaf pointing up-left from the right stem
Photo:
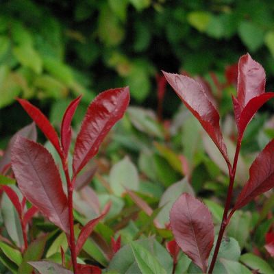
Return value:
<svg viewBox="0 0 274 274">
<path fill-rule="evenodd" d="M 190 77 L 172 73 L 164 73 L 169 84 L 173 87 L 179 98 L 184 102 L 188 110 L 199 120 L 210 138 L 219 148 L 227 162 L 227 148 L 223 142 L 223 136 L 219 125 L 219 112 L 208 99 L 201 84 Z"/>
</svg>

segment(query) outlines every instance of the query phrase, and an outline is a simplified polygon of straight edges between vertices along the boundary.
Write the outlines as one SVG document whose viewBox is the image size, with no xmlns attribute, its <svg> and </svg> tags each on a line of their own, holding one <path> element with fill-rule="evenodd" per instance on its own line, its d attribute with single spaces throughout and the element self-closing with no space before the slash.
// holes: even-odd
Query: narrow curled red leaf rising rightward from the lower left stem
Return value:
<svg viewBox="0 0 274 274">
<path fill-rule="evenodd" d="M 95 225 L 97 225 L 97 223 L 99 223 L 99 221 L 101 221 L 101 219 L 103 219 L 103 217 L 108 214 L 109 210 L 110 210 L 110 206 L 111 203 L 108 203 L 107 206 L 105 206 L 105 209 L 103 210 L 103 213 L 95 218 L 90 220 L 88 223 L 86 223 L 86 225 L 82 228 L 79 237 L 77 239 L 77 243 L 76 243 L 76 248 L 75 248 L 75 253 L 76 256 L 78 256 L 79 252 L 81 251 L 84 243 L 86 242 L 86 239 L 88 238 L 88 236 L 90 236 L 90 234 L 92 233 Z"/>
</svg>

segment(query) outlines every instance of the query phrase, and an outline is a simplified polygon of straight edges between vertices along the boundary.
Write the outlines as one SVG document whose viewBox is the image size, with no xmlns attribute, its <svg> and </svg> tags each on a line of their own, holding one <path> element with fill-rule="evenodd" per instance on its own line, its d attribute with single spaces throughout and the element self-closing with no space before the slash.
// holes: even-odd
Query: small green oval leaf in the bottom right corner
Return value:
<svg viewBox="0 0 274 274">
<path fill-rule="evenodd" d="M 273 269 L 266 261 L 256 255 L 253 255 L 252 253 L 245 253 L 240 256 L 240 262 L 244 263 L 253 270 L 258 270 L 262 274 L 274 273 Z"/>
</svg>

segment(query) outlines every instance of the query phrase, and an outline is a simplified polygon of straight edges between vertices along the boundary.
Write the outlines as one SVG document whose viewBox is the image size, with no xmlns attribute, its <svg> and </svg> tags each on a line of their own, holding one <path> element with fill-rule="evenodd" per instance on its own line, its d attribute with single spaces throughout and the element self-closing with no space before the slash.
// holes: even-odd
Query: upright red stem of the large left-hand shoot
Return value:
<svg viewBox="0 0 274 274">
<path fill-rule="evenodd" d="M 73 220 L 73 181 L 69 177 L 69 169 L 66 163 L 63 162 L 64 173 L 66 175 L 66 185 L 68 190 L 68 206 L 69 206 L 69 248 L 71 249 L 71 261 L 73 263 L 73 273 L 77 274 L 77 256 L 75 250 L 75 235 L 74 235 L 74 220 Z"/>
</svg>

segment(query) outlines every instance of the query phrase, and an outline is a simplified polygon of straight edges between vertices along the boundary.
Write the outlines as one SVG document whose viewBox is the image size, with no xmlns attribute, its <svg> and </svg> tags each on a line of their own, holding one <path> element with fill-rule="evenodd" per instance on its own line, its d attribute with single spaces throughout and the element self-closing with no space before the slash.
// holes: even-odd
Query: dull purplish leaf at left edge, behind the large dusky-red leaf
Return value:
<svg viewBox="0 0 274 274">
<path fill-rule="evenodd" d="M 35 124 L 31 123 L 30 125 L 23 127 L 23 129 L 20 129 L 18 132 L 16 132 L 16 134 L 14 134 L 14 136 L 12 136 L 12 138 L 10 139 L 7 149 L 5 149 L 5 153 L 0 159 L 0 173 L 2 174 L 3 174 L 3 170 L 5 169 L 5 166 L 10 164 L 10 153 L 12 151 L 12 146 L 17 136 L 23 136 L 30 140 L 36 141 L 37 132 L 36 132 Z"/>
</svg>

